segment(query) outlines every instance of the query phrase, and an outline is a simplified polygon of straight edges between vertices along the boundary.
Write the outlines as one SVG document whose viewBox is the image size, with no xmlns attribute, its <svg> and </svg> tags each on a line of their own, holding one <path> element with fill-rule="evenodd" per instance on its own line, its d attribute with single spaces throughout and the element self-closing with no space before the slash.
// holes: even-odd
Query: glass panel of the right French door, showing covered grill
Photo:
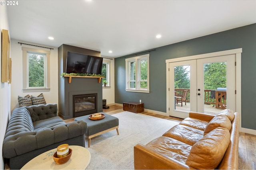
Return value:
<svg viewBox="0 0 256 170">
<path fill-rule="evenodd" d="M 226 109 L 227 62 L 204 64 L 204 113 Z"/>
</svg>

